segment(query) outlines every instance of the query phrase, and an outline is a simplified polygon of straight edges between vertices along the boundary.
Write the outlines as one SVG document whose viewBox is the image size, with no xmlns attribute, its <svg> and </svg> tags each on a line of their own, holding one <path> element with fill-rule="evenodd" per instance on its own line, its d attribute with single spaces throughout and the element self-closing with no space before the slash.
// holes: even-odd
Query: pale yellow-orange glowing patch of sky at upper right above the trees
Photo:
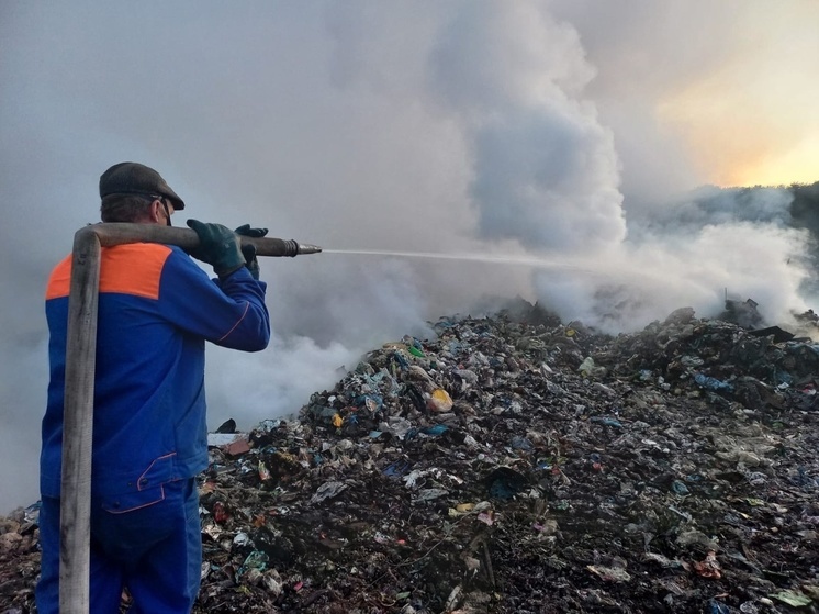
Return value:
<svg viewBox="0 0 819 614">
<path fill-rule="evenodd" d="M 819 181 L 819 2 L 756 4 L 741 48 L 658 107 L 718 186 Z"/>
</svg>

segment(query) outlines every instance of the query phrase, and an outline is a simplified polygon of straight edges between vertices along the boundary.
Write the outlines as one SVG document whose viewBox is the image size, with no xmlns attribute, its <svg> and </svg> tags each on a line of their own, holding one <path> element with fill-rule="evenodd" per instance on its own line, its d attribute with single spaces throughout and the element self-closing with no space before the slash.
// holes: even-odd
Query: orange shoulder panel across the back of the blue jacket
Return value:
<svg viewBox="0 0 819 614">
<path fill-rule="evenodd" d="M 157 243 L 130 243 L 103 247 L 100 292 L 158 299 L 162 267 L 170 252 L 170 247 Z M 67 297 L 70 289 L 71 256 L 67 256 L 52 271 L 45 298 L 51 300 Z"/>
</svg>

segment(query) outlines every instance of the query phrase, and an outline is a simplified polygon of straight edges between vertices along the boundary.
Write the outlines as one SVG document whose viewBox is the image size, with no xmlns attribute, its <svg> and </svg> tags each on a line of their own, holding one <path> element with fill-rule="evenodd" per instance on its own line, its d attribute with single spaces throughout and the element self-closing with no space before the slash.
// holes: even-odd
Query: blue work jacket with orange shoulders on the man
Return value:
<svg viewBox="0 0 819 614">
<path fill-rule="evenodd" d="M 59 496 L 71 257 L 46 290 L 51 381 L 41 493 Z M 112 512 L 161 500 L 161 484 L 207 467 L 204 342 L 257 351 L 270 339 L 266 284 L 246 268 L 221 281 L 179 247 L 105 247 L 94 373 L 92 496 Z"/>
</svg>

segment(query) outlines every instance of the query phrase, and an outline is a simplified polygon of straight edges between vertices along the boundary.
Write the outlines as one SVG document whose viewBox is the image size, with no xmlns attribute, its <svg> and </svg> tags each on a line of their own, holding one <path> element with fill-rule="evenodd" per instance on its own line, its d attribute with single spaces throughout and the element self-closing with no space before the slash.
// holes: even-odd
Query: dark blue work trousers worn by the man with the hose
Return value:
<svg viewBox="0 0 819 614">
<path fill-rule="evenodd" d="M 111 513 L 92 498 L 91 614 L 116 614 L 123 589 L 134 614 L 189 614 L 199 592 L 202 537 L 193 478 L 161 485 L 160 501 Z M 59 499 L 43 496 L 38 614 L 59 612 Z"/>
</svg>

